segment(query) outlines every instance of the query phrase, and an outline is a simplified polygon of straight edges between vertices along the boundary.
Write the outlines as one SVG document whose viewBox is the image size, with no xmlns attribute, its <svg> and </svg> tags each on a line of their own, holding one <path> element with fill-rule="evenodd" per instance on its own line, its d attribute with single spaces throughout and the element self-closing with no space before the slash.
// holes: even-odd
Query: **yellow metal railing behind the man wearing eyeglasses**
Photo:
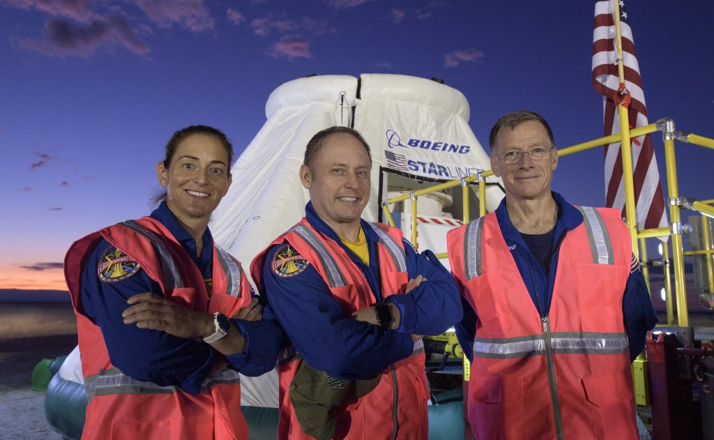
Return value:
<svg viewBox="0 0 714 440">
<path fill-rule="evenodd" d="M 624 111 L 623 111 L 624 110 Z M 628 129 L 628 119 L 627 119 L 627 109 L 620 109 L 620 126 L 625 127 L 623 132 L 620 134 L 613 134 L 611 136 L 604 136 L 600 139 L 595 139 L 593 141 L 584 142 L 583 144 L 577 144 L 569 146 L 565 149 L 557 150 L 558 156 L 568 156 L 569 154 L 575 154 L 580 151 L 585 151 L 588 149 L 593 149 L 598 146 L 613 144 L 620 141 L 620 146 L 622 147 L 623 157 L 623 170 L 630 170 L 630 172 L 623 172 L 623 180 L 625 183 L 625 211 L 628 214 L 626 222 L 628 230 L 630 231 L 630 239 L 632 240 L 633 254 L 635 256 L 640 256 L 640 246 L 642 251 L 641 260 L 643 262 L 642 270 L 643 276 L 645 276 L 645 282 L 647 283 L 648 290 L 650 290 L 650 279 L 649 279 L 649 268 L 648 268 L 648 256 L 647 256 L 647 245 L 645 239 L 654 237 L 665 237 L 670 236 L 670 241 L 660 242 L 662 246 L 662 256 L 663 260 L 653 261 L 655 266 L 663 266 L 664 271 L 664 284 L 665 284 L 665 306 L 667 310 L 667 324 L 674 325 L 674 310 L 673 310 L 673 299 L 672 299 L 672 281 L 670 274 L 670 266 L 673 266 L 674 279 L 675 279 L 675 300 L 677 304 L 677 324 L 679 326 L 689 326 L 689 314 L 687 306 L 687 296 L 686 296 L 686 286 L 684 278 L 684 256 L 693 255 L 706 255 L 708 258 L 706 260 L 706 268 L 708 273 L 708 285 L 709 291 L 714 293 L 714 274 L 712 268 L 712 261 L 710 256 L 714 254 L 712 246 L 710 246 L 710 234 L 708 221 L 706 221 L 705 216 L 710 216 L 714 218 L 714 207 L 709 206 L 714 204 L 714 199 L 696 201 L 694 199 L 688 199 L 686 197 L 679 196 L 679 188 L 677 182 L 677 167 L 675 163 L 675 151 L 674 151 L 674 141 L 675 139 L 679 141 L 688 142 L 690 144 L 695 144 L 699 146 L 705 146 L 710 149 L 714 149 L 714 139 L 705 138 L 703 136 L 698 136 L 695 134 L 685 133 L 683 131 L 674 131 L 674 121 L 671 119 L 661 119 L 655 124 L 649 124 L 647 126 L 638 127 L 636 129 Z M 669 206 L 669 218 L 670 227 L 669 228 L 653 228 L 644 229 L 638 231 L 637 221 L 635 219 L 635 195 L 634 195 L 634 184 L 633 184 L 633 168 L 632 168 L 632 155 L 630 151 L 630 139 L 633 137 L 643 136 L 645 134 L 651 134 L 655 131 L 662 131 L 663 140 L 665 144 L 665 165 L 667 170 L 667 192 L 668 192 L 668 206 Z M 478 207 L 479 215 L 486 215 L 486 177 L 492 176 L 493 171 L 482 170 L 478 171 L 478 174 L 465 177 L 456 181 L 448 181 L 443 184 L 438 184 L 435 186 L 430 186 L 428 188 L 419 189 L 417 191 L 411 191 L 409 194 L 403 194 L 401 196 L 393 197 L 383 202 L 382 209 L 385 214 L 385 218 L 389 224 L 394 225 L 394 220 L 389 211 L 389 205 L 398 203 L 400 201 L 405 201 L 411 199 L 411 238 L 412 244 L 418 249 L 418 235 L 417 235 L 417 198 L 425 194 L 429 194 L 435 191 L 443 191 L 445 189 L 451 189 L 456 186 L 461 185 L 462 200 L 463 200 L 463 222 L 466 224 L 470 219 L 469 214 L 469 184 L 473 181 L 478 183 Z M 698 211 L 702 214 L 703 226 L 702 234 L 705 241 L 705 249 L 702 251 L 687 251 L 683 249 L 682 234 L 685 232 L 685 227 L 681 223 L 680 219 L 680 208 L 691 209 L 693 211 Z M 639 241 L 639 246 L 638 246 Z M 669 256 L 669 246 L 672 246 L 672 264 L 670 264 Z M 440 259 L 448 258 L 448 254 L 436 254 Z M 650 291 L 651 295 L 651 291 Z M 638 405 L 648 405 L 649 404 L 649 392 L 648 392 L 648 377 L 646 374 L 646 363 L 647 360 L 643 354 L 640 354 L 633 363 L 633 381 L 635 383 L 635 401 Z M 463 358 L 464 366 L 464 380 L 468 381 L 469 365 L 466 356 Z"/>
</svg>

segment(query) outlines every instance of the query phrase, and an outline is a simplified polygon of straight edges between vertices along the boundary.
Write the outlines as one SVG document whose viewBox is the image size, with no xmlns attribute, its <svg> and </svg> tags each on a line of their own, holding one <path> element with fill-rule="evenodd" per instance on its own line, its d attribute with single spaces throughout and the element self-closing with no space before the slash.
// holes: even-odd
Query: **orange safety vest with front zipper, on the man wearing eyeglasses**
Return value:
<svg viewBox="0 0 714 440">
<path fill-rule="evenodd" d="M 476 439 L 638 439 L 622 313 L 632 245 L 616 209 L 578 208 L 541 317 L 496 214 L 449 231 L 476 311 L 468 420 Z"/>
</svg>

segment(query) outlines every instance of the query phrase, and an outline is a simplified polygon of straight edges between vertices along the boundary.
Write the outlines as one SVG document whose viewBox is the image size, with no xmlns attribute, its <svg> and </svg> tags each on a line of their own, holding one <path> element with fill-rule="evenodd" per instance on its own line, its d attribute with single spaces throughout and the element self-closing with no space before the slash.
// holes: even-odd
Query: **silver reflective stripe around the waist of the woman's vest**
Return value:
<svg viewBox="0 0 714 440">
<path fill-rule="evenodd" d="M 221 369 L 208 374 L 201 384 L 201 391 L 208 391 L 208 388 L 215 384 L 236 384 L 240 383 L 241 376 L 238 371 L 232 369 Z M 126 376 L 118 368 L 101 370 L 99 374 L 84 378 L 84 391 L 87 401 L 91 401 L 94 396 L 109 396 L 111 394 L 172 394 L 182 392 L 178 386 L 159 386 L 154 382 L 137 381 Z"/>
</svg>

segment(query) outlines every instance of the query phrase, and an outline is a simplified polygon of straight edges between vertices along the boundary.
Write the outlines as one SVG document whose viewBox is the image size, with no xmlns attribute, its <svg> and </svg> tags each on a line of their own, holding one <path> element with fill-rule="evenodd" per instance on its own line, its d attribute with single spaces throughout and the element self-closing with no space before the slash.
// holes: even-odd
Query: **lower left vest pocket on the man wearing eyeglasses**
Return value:
<svg viewBox="0 0 714 440">
<path fill-rule="evenodd" d="M 468 420 L 478 440 L 526 439 L 521 376 L 471 376 Z"/>
</svg>

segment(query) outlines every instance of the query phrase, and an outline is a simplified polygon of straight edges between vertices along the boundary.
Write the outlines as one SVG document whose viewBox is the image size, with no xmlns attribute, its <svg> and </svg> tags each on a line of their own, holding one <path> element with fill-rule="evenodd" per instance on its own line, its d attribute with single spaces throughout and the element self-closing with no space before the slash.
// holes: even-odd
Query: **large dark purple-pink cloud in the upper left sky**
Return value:
<svg viewBox="0 0 714 440">
<path fill-rule="evenodd" d="M 101 46 L 124 46 L 139 55 L 149 54 L 149 46 L 139 39 L 123 16 L 74 24 L 56 19 L 45 24 L 44 39 L 21 39 L 18 45 L 47 56 L 86 58 Z"/>
</svg>

